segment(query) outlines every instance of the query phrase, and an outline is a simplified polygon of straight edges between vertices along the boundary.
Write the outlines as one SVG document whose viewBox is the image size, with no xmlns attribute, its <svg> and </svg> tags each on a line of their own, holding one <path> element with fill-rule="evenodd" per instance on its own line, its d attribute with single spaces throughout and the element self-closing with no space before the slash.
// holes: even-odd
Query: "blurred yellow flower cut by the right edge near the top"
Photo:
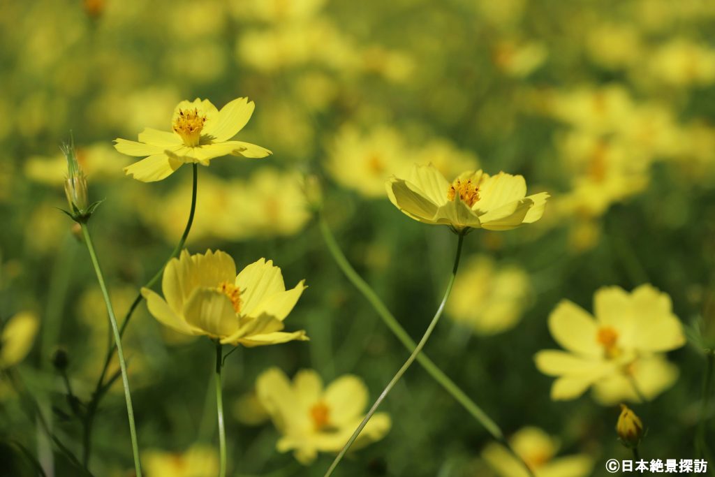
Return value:
<svg viewBox="0 0 715 477">
<path fill-rule="evenodd" d="M 651 73 L 677 87 L 715 82 L 715 50 L 679 38 L 650 56 Z"/>
</svg>

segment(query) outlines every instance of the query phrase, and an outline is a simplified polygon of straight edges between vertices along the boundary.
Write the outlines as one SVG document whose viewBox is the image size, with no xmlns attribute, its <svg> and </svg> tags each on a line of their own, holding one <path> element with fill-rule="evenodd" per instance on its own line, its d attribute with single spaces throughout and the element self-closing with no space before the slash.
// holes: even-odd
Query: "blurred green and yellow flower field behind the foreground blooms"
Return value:
<svg viewBox="0 0 715 477">
<path fill-rule="evenodd" d="M 523 174 L 530 192 L 552 195 L 536 224 L 468 235 L 430 357 L 508 436 L 537 426 L 558 438 L 560 454 L 586 454 L 593 475 L 607 475 L 608 458 L 631 456 L 616 439 L 618 408 L 588 393 L 552 401 L 552 378 L 533 355 L 557 347 L 546 323 L 559 300 L 591 310 L 598 287 L 651 283 L 671 296 L 689 345 L 669 354 L 675 385 L 635 406 L 649 428 L 641 453 L 695 458 L 701 349 L 715 343 L 714 28 L 706 0 L 3 1 L 0 319 L 29 312 L 41 323 L 11 372 L 78 451 L 81 428 L 50 358 L 66 350 L 74 392 L 89 398 L 109 324 L 87 250 L 57 210 L 66 207 L 59 145 L 70 132 L 92 200 L 104 199 L 91 227 L 123 316 L 182 232 L 191 172 L 132 180 L 122 172 L 132 158 L 112 140 L 169 130 L 182 99 L 221 107 L 247 96 L 256 110 L 241 139 L 274 154 L 199 167 L 187 247 L 226 250 L 239 267 L 272 258 L 289 286 L 305 278 L 289 328 L 312 340 L 227 359 L 230 475 L 322 476 L 332 460 L 306 467 L 275 451 L 279 433 L 251 407 L 267 368 L 312 368 L 326 382 L 353 373 L 375 398 L 407 358 L 332 260 L 302 177 L 320 179 L 325 219 L 348 259 L 419 338 L 455 237 L 398 212 L 384 181 L 428 162 L 448 177 Z M 212 343 L 170 334 L 144 304 L 125 342 L 142 453 L 215 451 Z M 55 475 L 75 475 L 26 408 L 4 375 L 0 474 L 37 475 L 22 447 L 39 449 Z M 419 365 L 383 410 L 390 433 L 340 475 L 497 475 L 482 457 L 488 433 Z M 712 420 L 708 432 L 712 441 Z M 90 468 L 132 475 L 119 383 L 97 415 Z"/>
</svg>

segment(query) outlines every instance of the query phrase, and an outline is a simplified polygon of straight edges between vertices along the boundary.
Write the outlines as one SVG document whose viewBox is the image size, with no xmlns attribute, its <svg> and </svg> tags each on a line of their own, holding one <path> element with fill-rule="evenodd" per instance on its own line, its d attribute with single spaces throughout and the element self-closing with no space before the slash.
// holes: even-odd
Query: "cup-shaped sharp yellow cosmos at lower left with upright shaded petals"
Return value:
<svg viewBox="0 0 715 477">
<path fill-rule="evenodd" d="M 260 259 L 236 275 L 225 252 L 189 255 L 184 250 L 164 270 L 164 298 L 148 288 L 142 288 L 142 295 L 154 318 L 179 333 L 253 347 L 307 340 L 303 330 L 281 331 L 305 290 L 303 282 L 286 290 L 271 260 Z"/>
</svg>

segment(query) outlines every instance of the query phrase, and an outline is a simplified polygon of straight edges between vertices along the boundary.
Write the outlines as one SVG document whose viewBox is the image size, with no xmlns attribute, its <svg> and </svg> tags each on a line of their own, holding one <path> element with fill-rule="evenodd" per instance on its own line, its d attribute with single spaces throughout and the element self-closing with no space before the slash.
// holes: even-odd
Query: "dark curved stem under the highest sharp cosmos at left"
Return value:
<svg viewBox="0 0 715 477">
<path fill-rule="evenodd" d="M 189 237 L 189 231 L 191 230 L 191 226 L 194 223 L 194 213 L 196 212 L 196 195 L 197 195 L 197 185 L 198 185 L 198 166 L 197 164 L 192 164 L 193 165 L 193 174 L 194 174 L 194 179 L 193 179 L 193 184 L 192 184 L 192 194 L 191 194 L 191 209 L 189 210 L 189 220 L 186 223 L 186 227 L 184 227 L 184 233 L 182 234 L 181 239 L 179 240 L 179 243 L 177 244 L 176 247 L 174 247 L 174 251 L 172 252 L 172 255 L 169 255 L 169 258 L 167 259 L 166 262 L 164 262 L 164 265 L 154 274 L 151 280 L 147 282 L 146 285 L 144 285 L 145 288 L 151 288 L 153 287 L 157 281 L 159 281 L 159 278 L 162 276 L 162 273 L 164 272 L 164 267 L 166 267 L 166 264 L 171 260 L 172 258 L 176 257 L 179 255 L 179 252 L 181 252 L 182 248 L 184 247 L 184 243 L 187 240 L 187 237 Z M 122 337 L 124 336 L 124 331 L 127 330 L 127 325 L 129 325 L 129 320 L 132 318 L 132 315 L 134 314 L 134 310 L 137 309 L 139 306 L 139 303 L 142 303 L 142 293 L 139 292 L 137 294 L 137 297 L 134 298 L 134 301 L 132 302 L 132 305 L 129 307 L 129 310 L 127 311 L 127 314 L 124 315 L 124 321 L 122 322 L 122 328 L 119 328 L 119 336 Z M 99 374 L 99 379 L 97 380 L 97 385 L 94 387 L 94 393 L 92 393 L 92 400 L 89 401 L 87 404 L 87 415 L 86 418 L 84 418 L 84 436 L 82 441 L 84 442 L 83 444 L 83 453 L 84 453 L 84 458 L 88 459 L 89 458 L 89 453 L 90 449 L 89 447 L 91 446 L 92 443 L 92 426 L 94 424 L 94 414 L 97 413 L 97 408 L 99 408 L 99 401 L 102 400 L 104 397 L 104 394 L 107 393 L 109 388 L 112 387 L 112 384 L 114 383 L 114 379 L 109 379 L 107 382 L 105 380 L 107 379 L 107 371 L 109 370 L 109 364 L 112 363 L 112 358 L 114 357 L 114 350 L 117 349 L 117 346 L 112 343 L 109 346 L 109 350 L 107 351 L 107 356 L 104 358 L 104 365 L 102 366 L 102 373 Z"/>
</svg>

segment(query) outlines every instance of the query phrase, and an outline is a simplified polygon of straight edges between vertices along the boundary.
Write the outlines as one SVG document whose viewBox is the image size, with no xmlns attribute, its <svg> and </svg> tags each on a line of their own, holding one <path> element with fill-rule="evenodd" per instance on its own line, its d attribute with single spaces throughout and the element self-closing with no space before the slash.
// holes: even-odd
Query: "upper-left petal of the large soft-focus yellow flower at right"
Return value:
<svg viewBox="0 0 715 477">
<path fill-rule="evenodd" d="M 598 327 L 586 310 L 568 300 L 561 300 L 548 317 L 548 329 L 556 342 L 574 353 L 599 356 Z"/>
</svg>

